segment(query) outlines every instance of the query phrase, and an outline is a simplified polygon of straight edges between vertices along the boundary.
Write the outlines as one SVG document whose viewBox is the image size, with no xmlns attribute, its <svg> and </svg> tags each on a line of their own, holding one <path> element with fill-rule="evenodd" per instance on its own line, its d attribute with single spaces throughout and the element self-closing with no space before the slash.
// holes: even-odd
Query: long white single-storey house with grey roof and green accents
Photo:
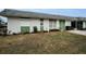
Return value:
<svg viewBox="0 0 86 64">
<path fill-rule="evenodd" d="M 36 12 L 4 9 L 1 16 L 8 17 L 9 34 L 86 29 L 86 17 L 71 17 Z"/>
</svg>

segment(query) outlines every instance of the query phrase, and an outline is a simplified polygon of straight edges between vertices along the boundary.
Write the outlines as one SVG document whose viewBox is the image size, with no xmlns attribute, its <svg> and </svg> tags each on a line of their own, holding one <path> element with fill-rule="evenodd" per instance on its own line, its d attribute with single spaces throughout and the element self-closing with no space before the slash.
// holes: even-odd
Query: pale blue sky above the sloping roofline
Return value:
<svg viewBox="0 0 86 64">
<path fill-rule="evenodd" d="M 48 14 L 57 14 L 57 15 L 86 17 L 86 9 L 21 9 L 21 10 L 39 12 L 39 13 L 48 13 Z"/>
</svg>

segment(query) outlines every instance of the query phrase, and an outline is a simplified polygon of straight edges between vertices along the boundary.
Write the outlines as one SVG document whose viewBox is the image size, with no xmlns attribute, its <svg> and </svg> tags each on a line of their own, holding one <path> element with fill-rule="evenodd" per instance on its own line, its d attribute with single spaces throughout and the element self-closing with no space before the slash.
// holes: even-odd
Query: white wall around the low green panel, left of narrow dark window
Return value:
<svg viewBox="0 0 86 64">
<path fill-rule="evenodd" d="M 29 20 L 29 18 L 8 18 L 8 29 L 12 33 L 21 33 L 21 26 L 29 26 L 29 31 L 33 33 L 33 27 L 37 26 L 40 30 L 39 20 Z"/>
</svg>

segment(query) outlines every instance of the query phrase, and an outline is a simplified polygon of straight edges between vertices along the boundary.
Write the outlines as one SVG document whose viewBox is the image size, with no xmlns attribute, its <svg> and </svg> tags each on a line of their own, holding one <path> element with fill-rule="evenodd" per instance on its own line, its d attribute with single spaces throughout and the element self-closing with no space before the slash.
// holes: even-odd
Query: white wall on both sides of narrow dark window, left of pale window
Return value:
<svg viewBox="0 0 86 64">
<path fill-rule="evenodd" d="M 40 20 L 37 18 L 8 18 L 8 30 L 10 34 L 21 33 L 21 26 L 29 26 L 29 33 L 34 31 L 34 26 L 37 26 L 38 31 L 40 31 Z M 44 30 L 49 31 L 49 20 L 44 20 Z"/>
</svg>

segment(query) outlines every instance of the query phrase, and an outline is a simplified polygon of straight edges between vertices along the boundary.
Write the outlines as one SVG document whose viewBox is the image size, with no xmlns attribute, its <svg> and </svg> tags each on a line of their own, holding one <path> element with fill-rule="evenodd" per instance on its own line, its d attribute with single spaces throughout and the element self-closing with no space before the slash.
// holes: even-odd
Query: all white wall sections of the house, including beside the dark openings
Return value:
<svg viewBox="0 0 86 64">
<path fill-rule="evenodd" d="M 52 27 L 50 27 L 50 23 L 52 24 Z M 21 26 L 29 26 L 29 29 L 30 29 L 29 33 L 34 31 L 34 26 L 37 26 L 38 31 L 40 31 L 40 20 L 39 18 L 15 18 L 15 17 L 8 18 L 8 29 L 11 30 L 12 34 L 21 33 Z M 65 21 L 65 26 L 71 26 L 71 22 Z M 44 30 L 49 31 L 49 29 L 60 29 L 59 21 L 49 22 L 49 20 L 44 20 Z"/>
</svg>

